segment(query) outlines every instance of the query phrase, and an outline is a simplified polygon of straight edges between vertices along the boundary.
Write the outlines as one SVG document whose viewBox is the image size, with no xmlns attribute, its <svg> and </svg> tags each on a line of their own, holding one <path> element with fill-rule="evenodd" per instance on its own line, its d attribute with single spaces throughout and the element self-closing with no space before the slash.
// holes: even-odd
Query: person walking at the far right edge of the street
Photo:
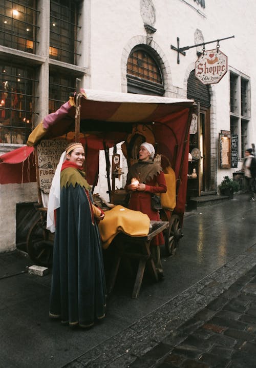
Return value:
<svg viewBox="0 0 256 368">
<path fill-rule="evenodd" d="M 253 156 L 251 148 L 245 150 L 245 158 L 243 162 L 243 171 L 246 182 L 246 189 L 251 192 L 250 201 L 256 201 L 255 178 L 256 178 L 256 159 Z"/>
</svg>

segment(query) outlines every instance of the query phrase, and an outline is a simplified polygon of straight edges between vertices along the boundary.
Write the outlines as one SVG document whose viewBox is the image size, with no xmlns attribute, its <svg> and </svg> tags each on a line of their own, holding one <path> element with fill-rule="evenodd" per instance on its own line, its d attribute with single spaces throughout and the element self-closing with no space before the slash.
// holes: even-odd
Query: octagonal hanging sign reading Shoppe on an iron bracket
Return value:
<svg viewBox="0 0 256 368">
<path fill-rule="evenodd" d="M 195 75 L 204 85 L 219 83 L 227 69 L 227 56 L 218 47 L 204 51 L 195 63 Z"/>
</svg>

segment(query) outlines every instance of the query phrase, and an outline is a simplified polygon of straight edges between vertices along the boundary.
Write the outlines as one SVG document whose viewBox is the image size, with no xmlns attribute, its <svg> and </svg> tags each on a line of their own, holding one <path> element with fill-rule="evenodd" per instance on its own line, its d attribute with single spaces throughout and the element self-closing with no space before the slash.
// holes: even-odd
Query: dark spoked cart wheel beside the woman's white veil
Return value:
<svg viewBox="0 0 256 368">
<path fill-rule="evenodd" d="M 53 257 L 53 234 L 46 230 L 45 223 L 37 219 L 27 236 L 27 252 L 35 264 L 51 267 Z"/>
</svg>

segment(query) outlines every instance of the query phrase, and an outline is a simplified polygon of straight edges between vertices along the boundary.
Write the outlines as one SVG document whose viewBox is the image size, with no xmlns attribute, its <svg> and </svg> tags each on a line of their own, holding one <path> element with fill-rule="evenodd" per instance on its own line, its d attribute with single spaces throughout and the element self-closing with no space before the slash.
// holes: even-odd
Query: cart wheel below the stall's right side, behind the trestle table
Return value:
<svg viewBox="0 0 256 368">
<path fill-rule="evenodd" d="M 169 227 L 165 233 L 165 249 L 168 256 L 174 255 L 178 242 L 182 238 L 180 217 L 172 215 L 169 221 Z"/>
</svg>

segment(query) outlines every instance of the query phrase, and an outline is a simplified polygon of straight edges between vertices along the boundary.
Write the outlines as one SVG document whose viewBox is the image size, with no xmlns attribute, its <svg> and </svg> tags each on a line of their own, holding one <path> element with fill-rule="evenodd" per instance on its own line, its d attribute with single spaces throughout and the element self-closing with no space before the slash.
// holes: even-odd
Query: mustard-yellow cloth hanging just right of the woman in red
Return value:
<svg viewBox="0 0 256 368">
<path fill-rule="evenodd" d="M 161 205 L 163 208 L 173 211 L 176 207 L 176 177 L 174 170 L 168 166 L 164 170 L 167 191 L 161 193 Z"/>
</svg>

